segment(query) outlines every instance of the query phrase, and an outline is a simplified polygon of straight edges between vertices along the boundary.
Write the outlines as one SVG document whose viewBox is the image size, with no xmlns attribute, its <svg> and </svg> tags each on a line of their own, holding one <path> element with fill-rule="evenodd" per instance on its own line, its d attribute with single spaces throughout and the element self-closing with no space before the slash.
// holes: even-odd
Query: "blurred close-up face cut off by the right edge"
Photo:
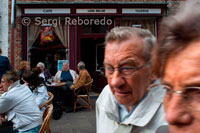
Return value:
<svg viewBox="0 0 200 133">
<path fill-rule="evenodd" d="M 199 133 L 200 41 L 192 42 L 182 52 L 168 58 L 163 84 L 170 86 L 172 91 L 183 92 L 168 92 L 165 95 L 166 120 L 170 132 Z"/>
</svg>

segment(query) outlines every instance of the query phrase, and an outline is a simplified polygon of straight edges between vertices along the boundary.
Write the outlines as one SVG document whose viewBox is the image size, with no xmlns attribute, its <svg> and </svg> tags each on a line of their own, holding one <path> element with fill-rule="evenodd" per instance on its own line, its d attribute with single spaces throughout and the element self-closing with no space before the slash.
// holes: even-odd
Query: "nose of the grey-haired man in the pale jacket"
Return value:
<svg viewBox="0 0 200 133">
<path fill-rule="evenodd" d="M 114 71 L 111 77 L 111 85 L 117 88 L 123 85 L 124 82 L 124 78 L 120 75 L 120 72 Z"/>
</svg>

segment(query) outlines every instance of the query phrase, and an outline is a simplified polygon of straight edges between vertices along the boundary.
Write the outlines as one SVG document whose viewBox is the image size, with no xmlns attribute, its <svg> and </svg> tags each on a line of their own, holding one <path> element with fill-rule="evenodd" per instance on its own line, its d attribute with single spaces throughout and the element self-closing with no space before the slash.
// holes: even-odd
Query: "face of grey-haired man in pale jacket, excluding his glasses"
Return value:
<svg viewBox="0 0 200 133">
<path fill-rule="evenodd" d="M 116 68 L 140 67 L 146 64 L 142 57 L 142 44 L 142 40 L 134 36 L 120 43 L 108 42 L 105 49 L 105 67 L 115 68 L 112 75 L 106 75 L 108 84 L 118 102 L 124 104 L 129 111 L 146 94 L 150 82 L 150 68 L 145 66 L 129 78 L 123 77 Z"/>
</svg>

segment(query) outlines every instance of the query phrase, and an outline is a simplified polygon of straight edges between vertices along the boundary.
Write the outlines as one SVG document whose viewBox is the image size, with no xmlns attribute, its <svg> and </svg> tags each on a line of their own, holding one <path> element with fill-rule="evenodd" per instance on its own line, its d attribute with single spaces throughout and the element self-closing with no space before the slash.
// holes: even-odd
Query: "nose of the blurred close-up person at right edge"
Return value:
<svg viewBox="0 0 200 133">
<path fill-rule="evenodd" d="M 170 101 L 165 104 L 166 120 L 170 125 L 189 125 L 192 123 L 192 114 L 186 109 L 182 97 L 179 94 L 173 94 Z"/>
</svg>

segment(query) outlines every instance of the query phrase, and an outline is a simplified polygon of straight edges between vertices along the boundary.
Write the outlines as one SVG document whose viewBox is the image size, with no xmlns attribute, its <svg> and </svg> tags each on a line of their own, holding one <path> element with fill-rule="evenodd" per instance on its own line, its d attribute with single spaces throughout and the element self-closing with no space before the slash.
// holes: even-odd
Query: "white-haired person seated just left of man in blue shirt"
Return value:
<svg viewBox="0 0 200 133">
<path fill-rule="evenodd" d="M 51 78 L 51 73 L 45 68 L 44 63 L 42 62 L 38 62 L 38 64 L 36 65 L 36 67 L 39 67 L 41 69 L 41 73 L 40 73 L 40 77 L 42 77 L 44 79 L 44 81 L 46 82 L 48 79 Z"/>
</svg>

